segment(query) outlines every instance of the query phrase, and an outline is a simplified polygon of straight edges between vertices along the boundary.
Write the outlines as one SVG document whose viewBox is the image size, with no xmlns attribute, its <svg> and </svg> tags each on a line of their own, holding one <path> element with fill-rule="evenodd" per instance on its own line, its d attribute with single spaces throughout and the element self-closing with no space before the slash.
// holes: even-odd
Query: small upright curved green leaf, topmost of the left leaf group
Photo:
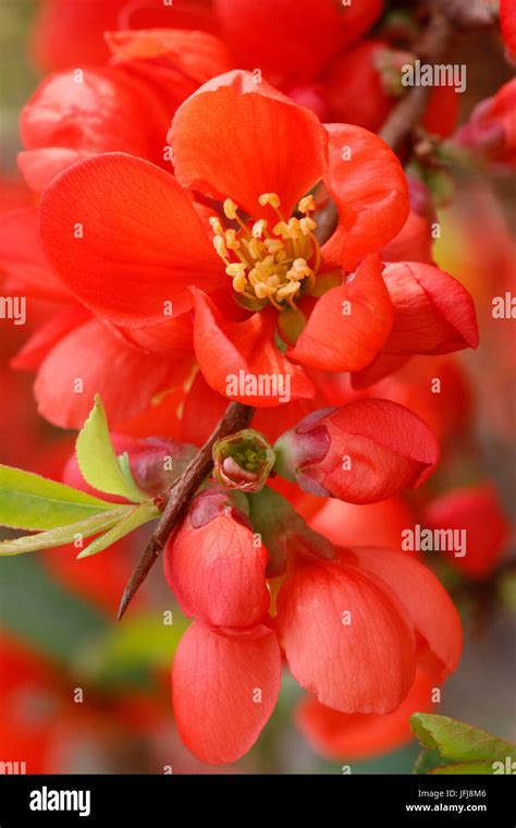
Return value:
<svg viewBox="0 0 516 828">
<path fill-rule="evenodd" d="M 75 443 L 77 463 L 86 483 L 107 495 L 118 495 L 135 503 L 145 500 L 140 489 L 123 473 L 109 435 L 102 400 L 95 397 L 94 407 Z"/>
</svg>

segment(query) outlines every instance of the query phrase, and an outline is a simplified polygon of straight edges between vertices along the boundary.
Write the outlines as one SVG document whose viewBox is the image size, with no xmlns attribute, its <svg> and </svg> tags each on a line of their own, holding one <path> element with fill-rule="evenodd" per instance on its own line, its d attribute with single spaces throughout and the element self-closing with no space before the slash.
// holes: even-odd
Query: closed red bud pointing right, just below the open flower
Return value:
<svg viewBox="0 0 516 828">
<path fill-rule="evenodd" d="M 439 461 L 433 433 L 388 400 L 310 414 L 275 443 L 277 471 L 320 497 L 373 503 L 426 480 Z"/>
</svg>

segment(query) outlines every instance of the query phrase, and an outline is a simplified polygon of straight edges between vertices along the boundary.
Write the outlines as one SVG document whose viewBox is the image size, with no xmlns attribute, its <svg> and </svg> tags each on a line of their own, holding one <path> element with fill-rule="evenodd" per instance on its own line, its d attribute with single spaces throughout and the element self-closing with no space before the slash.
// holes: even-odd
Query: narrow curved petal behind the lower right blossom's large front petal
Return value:
<svg viewBox="0 0 516 828">
<path fill-rule="evenodd" d="M 352 551 L 360 571 L 380 577 L 401 600 L 414 626 L 439 659 L 441 680 L 453 672 L 463 648 L 460 619 L 433 572 L 407 552 L 369 547 L 355 547 Z M 347 556 L 344 560 L 352 562 Z"/>
</svg>

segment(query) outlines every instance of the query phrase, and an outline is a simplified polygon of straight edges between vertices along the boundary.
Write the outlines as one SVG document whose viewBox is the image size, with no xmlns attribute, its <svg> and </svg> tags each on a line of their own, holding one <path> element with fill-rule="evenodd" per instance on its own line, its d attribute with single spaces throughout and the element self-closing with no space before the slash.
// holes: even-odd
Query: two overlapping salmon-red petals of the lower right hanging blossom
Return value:
<svg viewBox="0 0 516 828">
<path fill-rule="evenodd" d="M 440 680 L 455 669 L 460 622 L 423 564 L 366 547 L 329 561 L 294 556 L 294 546 L 278 623 L 294 678 L 319 702 L 343 713 L 391 713 L 413 685 L 417 660 Z"/>
</svg>

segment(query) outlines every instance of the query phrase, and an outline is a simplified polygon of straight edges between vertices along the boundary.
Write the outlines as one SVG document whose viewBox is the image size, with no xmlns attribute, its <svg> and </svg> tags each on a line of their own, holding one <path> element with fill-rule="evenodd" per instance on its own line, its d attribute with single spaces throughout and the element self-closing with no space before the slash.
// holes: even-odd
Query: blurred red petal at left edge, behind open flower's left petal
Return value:
<svg viewBox="0 0 516 828">
<path fill-rule="evenodd" d="M 70 302 L 72 296 L 50 269 L 39 238 L 37 207 L 0 216 L 0 265 L 20 279 L 30 295 L 52 302 Z"/>
</svg>

